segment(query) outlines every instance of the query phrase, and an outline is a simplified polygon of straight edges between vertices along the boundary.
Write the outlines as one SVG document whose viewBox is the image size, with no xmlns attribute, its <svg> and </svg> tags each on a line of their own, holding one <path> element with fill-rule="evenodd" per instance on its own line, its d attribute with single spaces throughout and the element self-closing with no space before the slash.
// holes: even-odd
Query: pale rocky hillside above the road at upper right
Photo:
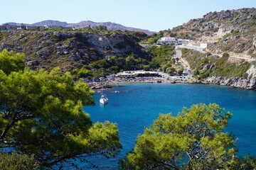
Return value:
<svg viewBox="0 0 256 170">
<path fill-rule="evenodd" d="M 256 8 L 210 12 L 163 32 L 195 43 L 207 42 L 209 52 L 256 57 Z"/>
</svg>

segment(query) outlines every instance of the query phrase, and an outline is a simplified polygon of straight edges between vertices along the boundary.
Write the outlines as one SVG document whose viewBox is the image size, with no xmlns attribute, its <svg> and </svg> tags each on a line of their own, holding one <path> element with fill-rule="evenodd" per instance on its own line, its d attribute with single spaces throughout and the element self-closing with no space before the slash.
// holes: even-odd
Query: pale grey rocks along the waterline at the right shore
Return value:
<svg viewBox="0 0 256 170">
<path fill-rule="evenodd" d="M 242 89 L 256 89 L 256 79 L 242 79 L 232 77 L 230 79 L 224 77 L 210 77 L 206 79 L 206 84 L 217 84 L 220 86 L 233 86 Z"/>
</svg>

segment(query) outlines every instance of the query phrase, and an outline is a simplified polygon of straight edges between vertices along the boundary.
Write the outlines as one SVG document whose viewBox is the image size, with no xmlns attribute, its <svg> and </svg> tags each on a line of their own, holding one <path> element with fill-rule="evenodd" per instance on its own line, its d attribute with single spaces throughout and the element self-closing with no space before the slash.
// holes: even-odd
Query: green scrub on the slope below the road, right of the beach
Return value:
<svg viewBox="0 0 256 170">
<path fill-rule="evenodd" d="M 222 57 L 211 55 L 210 52 L 201 53 L 196 50 L 183 48 L 182 57 L 188 61 L 194 77 L 205 79 L 207 77 L 242 77 L 247 79 L 247 69 L 252 63 L 240 60 L 240 62 L 230 62 L 228 53 Z"/>
</svg>

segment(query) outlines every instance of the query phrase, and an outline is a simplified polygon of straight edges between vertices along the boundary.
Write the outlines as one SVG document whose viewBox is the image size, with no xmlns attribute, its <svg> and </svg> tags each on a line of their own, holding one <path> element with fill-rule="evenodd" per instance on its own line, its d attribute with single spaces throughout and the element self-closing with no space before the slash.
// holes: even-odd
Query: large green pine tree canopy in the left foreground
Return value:
<svg viewBox="0 0 256 170">
<path fill-rule="evenodd" d="M 2 60 L 6 55 L 9 60 Z M 0 61 L 11 63 L 12 57 L 16 58 L 14 52 L 0 52 Z M 4 62 L 0 64 L 2 152 L 33 154 L 43 166 L 97 154 L 113 157 L 119 152 L 117 125 L 92 123 L 82 109 L 94 104 L 87 84 L 74 82 L 69 72 L 58 68 L 31 71 L 13 64 L 6 68 Z"/>
</svg>

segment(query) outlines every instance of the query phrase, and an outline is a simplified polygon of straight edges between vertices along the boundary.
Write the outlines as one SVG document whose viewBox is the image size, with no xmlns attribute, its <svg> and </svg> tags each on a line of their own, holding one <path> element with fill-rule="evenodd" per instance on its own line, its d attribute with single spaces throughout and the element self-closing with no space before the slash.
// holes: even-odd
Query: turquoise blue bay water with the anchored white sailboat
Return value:
<svg viewBox="0 0 256 170">
<path fill-rule="evenodd" d="M 176 115 L 184 106 L 189 108 L 196 103 L 218 103 L 233 113 L 226 131 L 232 131 L 239 138 L 238 155 L 250 152 L 256 157 L 256 91 L 199 84 L 122 84 L 105 93 L 109 98 L 106 106 L 100 106 L 100 94 L 96 92 L 95 106 L 85 106 L 84 110 L 94 122 L 117 123 L 123 149 L 114 159 L 90 159 L 97 169 L 117 169 L 118 160 L 132 150 L 137 135 L 143 133 L 159 113 Z M 89 168 L 82 163 L 80 167 Z"/>
</svg>

